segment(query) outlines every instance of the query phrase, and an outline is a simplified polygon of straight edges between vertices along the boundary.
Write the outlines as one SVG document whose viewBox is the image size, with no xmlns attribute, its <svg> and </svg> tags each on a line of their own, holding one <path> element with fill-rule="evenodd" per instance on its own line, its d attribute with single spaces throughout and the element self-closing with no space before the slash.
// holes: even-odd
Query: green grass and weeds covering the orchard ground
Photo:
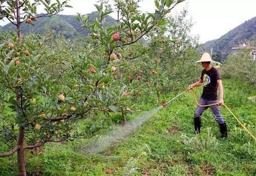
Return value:
<svg viewBox="0 0 256 176">
<path fill-rule="evenodd" d="M 225 104 L 256 135 L 255 87 L 235 80 L 223 80 Z M 184 87 L 185 89 L 185 87 Z M 195 88 L 199 98 L 201 87 Z M 162 96 L 166 102 L 183 92 Z M 156 108 L 156 96 L 144 97 L 128 114 L 137 115 Z M 218 124 L 211 112 L 202 117 L 200 135 L 193 135 L 193 113 L 196 103 L 192 91 L 160 109 L 126 140 L 114 143 L 97 154 L 84 153 L 84 146 L 94 141 L 79 139 L 67 143 L 50 143 L 44 148 L 26 151 L 28 175 L 256 175 L 256 143 L 225 107 L 221 113 L 228 125 L 228 139 L 220 139 Z M 134 110 L 134 109 L 133 109 Z M 103 115 L 96 119 L 104 118 Z M 111 115 L 107 126 L 119 125 L 121 115 Z M 95 120 L 96 120 L 95 119 Z M 80 127 L 87 125 L 86 120 Z M 98 135 L 107 129 L 102 129 Z M 0 145 L 1 146 L 1 145 Z M 1 148 L 1 147 L 0 147 Z M 1 175 L 17 175 L 16 154 L 0 158 Z M 15 167 L 14 167 L 15 166 Z"/>
</svg>

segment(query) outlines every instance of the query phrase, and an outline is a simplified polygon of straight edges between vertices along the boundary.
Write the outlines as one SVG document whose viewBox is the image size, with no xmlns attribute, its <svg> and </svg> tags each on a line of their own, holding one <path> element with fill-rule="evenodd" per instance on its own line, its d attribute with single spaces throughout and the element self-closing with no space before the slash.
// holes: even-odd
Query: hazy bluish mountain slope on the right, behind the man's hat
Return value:
<svg viewBox="0 0 256 176">
<path fill-rule="evenodd" d="M 240 43 L 255 41 L 256 38 L 256 17 L 247 20 L 236 28 L 232 29 L 219 39 L 208 41 L 204 44 L 207 51 L 213 48 L 213 53 L 221 53 L 224 59 L 228 53 L 232 52 L 232 47 Z"/>
</svg>

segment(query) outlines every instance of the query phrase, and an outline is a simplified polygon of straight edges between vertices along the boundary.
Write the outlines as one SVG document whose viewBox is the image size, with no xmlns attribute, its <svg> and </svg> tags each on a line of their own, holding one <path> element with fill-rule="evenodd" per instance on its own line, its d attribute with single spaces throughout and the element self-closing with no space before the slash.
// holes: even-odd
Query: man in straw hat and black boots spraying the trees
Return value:
<svg viewBox="0 0 256 176">
<path fill-rule="evenodd" d="M 194 114 L 194 125 L 195 125 L 195 134 L 200 133 L 201 128 L 201 115 L 203 112 L 210 108 L 212 111 L 212 115 L 215 117 L 216 122 L 219 124 L 221 138 L 227 138 L 227 124 L 225 120 L 220 115 L 219 105 L 224 105 L 223 101 L 223 86 L 221 82 L 221 77 L 219 71 L 211 66 L 211 56 L 209 53 L 205 52 L 201 59 L 196 62 L 201 62 L 204 70 L 202 71 L 200 80 L 195 83 L 189 85 L 189 88 L 193 88 L 195 86 L 203 85 L 203 93 L 199 100 L 199 105 L 209 105 L 218 103 L 212 106 L 196 106 L 195 114 Z M 217 90 L 219 89 L 219 100 Z"/>
</svg>

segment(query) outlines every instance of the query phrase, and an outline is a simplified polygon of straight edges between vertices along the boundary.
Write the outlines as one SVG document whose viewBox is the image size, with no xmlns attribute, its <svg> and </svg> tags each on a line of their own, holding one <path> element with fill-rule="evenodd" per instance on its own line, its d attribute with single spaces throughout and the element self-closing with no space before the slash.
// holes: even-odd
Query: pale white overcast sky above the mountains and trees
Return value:
<svg viewBox="0 0 256 176">
<path fill-rule="evenodd" d="M 61 14 L 91 13 L 96 11 L 93 4 L 97 4 L 97 1 L 70 0 L 73 8 L 66 8 Z M 154 0 L 143 0 L 139 5 L 142 12 L 155 11 Z M 256 17 L 256 0 L 185 0 L 173 9 L 172 14 L 179 13 L 183 8 L 188 10 L 188 17 L 194 23 L 191 35 L 199 35 L 200 43 L 218 39 L 246 20 Z M 115 17 L 115 14 L 111 16 Z M 5 24 L 0 20 L 1 26 Z"/>
</svg>

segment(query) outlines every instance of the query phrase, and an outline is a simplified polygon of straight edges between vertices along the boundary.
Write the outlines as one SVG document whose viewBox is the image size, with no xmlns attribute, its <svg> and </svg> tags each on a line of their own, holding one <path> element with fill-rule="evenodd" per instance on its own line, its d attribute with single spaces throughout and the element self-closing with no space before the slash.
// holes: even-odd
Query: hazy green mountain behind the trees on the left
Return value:
<svg viewBox="0 0 256 176">
<path fill-rule="evenodd" d="M 97 18 L 96 12 L 92 12 L 87 14 L 89 16 L 89 21 L 92 22 L 95 18 Z M 54 15 L 51 17 L 43 17 L 39 18 L 37 21 L 33 21 L 32 25 L 28 25 L 27 23 L 23 23 L 22 34 L 44 34 L 45 32 L 51 30 L 54 31 L 54 35 L 62 35 L 68 39 L 74 39 L 78 36 L 87 36 L 88 30 L 82 27 L 79 21 L 76 20 L 75 15 Z M 112 26 L 116 24 L 116 20 L 109 15 L 106 16 L 105 22 L 103 26 Z M 10 30 L 15 30 L 15 26 L 11 23 L 6 24 L 5 26 L 0 27 L 1 33 L 8 32 Z"/>
</svg>

